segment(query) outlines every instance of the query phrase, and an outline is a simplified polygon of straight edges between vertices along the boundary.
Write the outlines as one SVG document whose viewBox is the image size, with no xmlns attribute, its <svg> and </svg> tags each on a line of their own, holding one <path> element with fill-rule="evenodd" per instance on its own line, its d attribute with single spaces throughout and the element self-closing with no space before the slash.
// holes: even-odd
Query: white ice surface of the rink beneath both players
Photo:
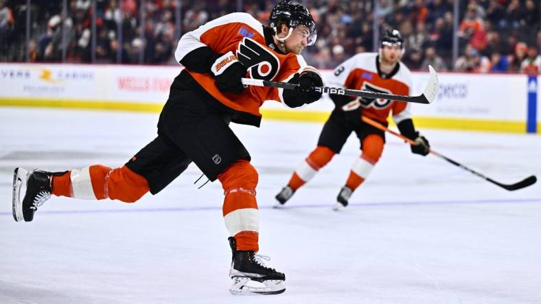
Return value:
<svg viewBox="0 0 541 304">
<path fill-rule="evenodd" d="M 334 212 L 359 154 L 352 136 L 272 209 L 319 123 L 234 127 L 260 173 L 260 253 L 286 273 L 278 296 L 229 295 L 222 189 L 197 190 L 195 166 L 135 204 L 53 197 L 32 223 L 14 222 L 14 167 L 121 166 L 157 118 L 0 107 L 0 303 L 541 303 L 541 183 L 508 192 L 388 135 L 372 175 Z M 540 136 L 422 132 L 498 181 L 541 176 Z"/>
</svg>

